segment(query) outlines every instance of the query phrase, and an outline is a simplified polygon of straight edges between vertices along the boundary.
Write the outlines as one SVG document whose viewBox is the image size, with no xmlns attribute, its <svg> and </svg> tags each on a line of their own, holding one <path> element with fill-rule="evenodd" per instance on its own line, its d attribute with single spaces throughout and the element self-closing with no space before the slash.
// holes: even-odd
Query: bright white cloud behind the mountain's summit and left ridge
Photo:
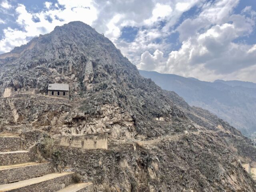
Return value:
<svg viewBox="0 0 256 192">
<path fill-rule="evenodd" d="M 96 9 L 91 1 L 70 3 L 70 1 L 59 0 L 58 3 L 66 8 L 64 10 L 56 8 L 37 13 L 28 12 L 23 4 L 18 4 L 15 9 L 18 15 L 16 23 L 22 27 L 22 30 L 5 29 L 3 31 L 4 38 L 0 41 L 0 52 L 9 52 L 14 46 L 26 44 L 29 37 L 49 33 L 55 26 L 61 26 L 76 20 L 92 24 L 97 18 Z M 51 4 L 46 2 L 45 6 L 50 8 Z M 35 22 L 33 20 L 34 17 L 40 21 Z M 50 18 L 50 20 L 47 18 Z"/>
</svg>

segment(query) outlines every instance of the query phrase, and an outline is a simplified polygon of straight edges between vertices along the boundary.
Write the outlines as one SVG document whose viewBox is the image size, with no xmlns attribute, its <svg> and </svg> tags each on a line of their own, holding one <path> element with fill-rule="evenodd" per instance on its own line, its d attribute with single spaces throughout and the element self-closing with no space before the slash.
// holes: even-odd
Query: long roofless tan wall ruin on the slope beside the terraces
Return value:
<svg viewBox="0 0 256 192">
<path fill-rule="evenodd" d="M 62 135 L 58 140 L 60 146 L 82 149 L 108 149 L 106 134 Z"/>
</svg>

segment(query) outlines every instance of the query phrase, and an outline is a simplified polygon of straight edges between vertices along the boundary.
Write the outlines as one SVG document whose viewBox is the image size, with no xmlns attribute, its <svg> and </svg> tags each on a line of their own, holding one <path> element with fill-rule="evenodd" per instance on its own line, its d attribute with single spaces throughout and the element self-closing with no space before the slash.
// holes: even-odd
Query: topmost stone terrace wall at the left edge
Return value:
<svg viewBox="0 0 256 192">
<path fill-rule="evenodd" d="M 0 152 L 22 150 L 25 140 L 20 137 L 0 137 Z"/>
</svg>

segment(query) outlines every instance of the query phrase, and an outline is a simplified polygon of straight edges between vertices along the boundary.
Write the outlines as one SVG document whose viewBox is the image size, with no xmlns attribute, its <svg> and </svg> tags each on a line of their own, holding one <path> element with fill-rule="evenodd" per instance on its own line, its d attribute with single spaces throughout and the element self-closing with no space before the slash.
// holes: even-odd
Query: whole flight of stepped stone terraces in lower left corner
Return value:
<svg viewBox="0 0 256 192">
<path fill-rule="evenodd" d="M 90 192 L 92 183 L 74 183 L 74 172 L 54 172 L 50 162 L 36 162 L 35 147 L 0 134 L 0 192 Z"/>
</svg>

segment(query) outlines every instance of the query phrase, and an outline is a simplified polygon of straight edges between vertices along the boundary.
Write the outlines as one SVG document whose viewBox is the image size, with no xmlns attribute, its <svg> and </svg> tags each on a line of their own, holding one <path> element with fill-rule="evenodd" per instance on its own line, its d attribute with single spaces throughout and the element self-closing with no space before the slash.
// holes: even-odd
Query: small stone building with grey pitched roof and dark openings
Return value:
<svg viewBox="0 0 256 192">
<path fill-rule="evenodd" d="M 49 97 L 69 98 L 69 85 L 68 84 L 49 84 L 48 85 Z"/>
</svg>

